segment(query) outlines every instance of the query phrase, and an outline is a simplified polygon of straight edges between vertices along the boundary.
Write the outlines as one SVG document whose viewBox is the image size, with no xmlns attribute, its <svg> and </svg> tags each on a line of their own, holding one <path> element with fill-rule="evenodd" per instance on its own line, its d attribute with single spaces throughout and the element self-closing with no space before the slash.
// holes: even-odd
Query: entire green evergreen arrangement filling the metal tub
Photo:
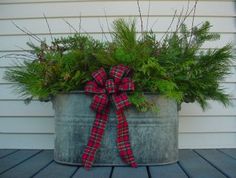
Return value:
<svg viewBox="0 0 236 178">
<path fill-rule="evenodd" d="M 179 104 L 196 101 L 203 109 L 207 100 L 229 104 L 219 82 L 229 73 L 232 47 L 201 50 L 205 42 L 219 39 L 219 34 L 210 32 L 209 22 L 190 30 L 182 23 L 162 40 L 152 31 L 138 35 L 135 21 L 118 19 L 113 27 L 111 42 L 77 33 L 55 38 L 51 44 L 29 43 L 34 58 L 8 69 L 5 79 L 26 98 L 47 101 L 59 93 L 83 90 L 101 66 L 109 70 L 124 64 L 132 69 L 136 85 L 129 99 L 140 111 L 152 108 L 145 92 L 165 95 Z"/>
</svg>

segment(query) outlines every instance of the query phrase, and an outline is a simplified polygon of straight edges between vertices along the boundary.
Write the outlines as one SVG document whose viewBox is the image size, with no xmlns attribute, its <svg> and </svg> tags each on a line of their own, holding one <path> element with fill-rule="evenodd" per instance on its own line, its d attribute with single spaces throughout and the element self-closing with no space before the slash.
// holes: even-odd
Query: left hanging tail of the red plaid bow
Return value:
<svg viewBox="0 0 236 178">
<path fill-rule="evenodd" d="M 97 112 L 96 118 L 93 123 L 91 134 L 88 140 L 87 147 L 82 155 L 82 164 L 84 168 L 89 170 L 95 159 L 96 152 L 101 145 L 102 136 L 104 134 L 106 124 L 108 121 L 109 107 L 107 107 L 102 113 Z"/>
</svg>

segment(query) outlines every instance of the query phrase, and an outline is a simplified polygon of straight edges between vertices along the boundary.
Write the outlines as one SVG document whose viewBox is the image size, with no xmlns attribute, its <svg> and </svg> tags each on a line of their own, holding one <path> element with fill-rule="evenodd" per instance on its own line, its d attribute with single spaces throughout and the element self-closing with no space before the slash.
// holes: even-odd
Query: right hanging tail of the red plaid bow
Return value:
<svg viewBox="0 0 236 178">
<path fill-rule="evenodd" d="M 122 109 L 116 111 L 118 119 L 117 124 L 117 147 L 120 153 L 120 157 L 124 162 L 130 164 L 131 167 L 137 167 L 135 162 L 131 144 L 129 141 L 129 128 L 128 122 Z"/>
</svg>

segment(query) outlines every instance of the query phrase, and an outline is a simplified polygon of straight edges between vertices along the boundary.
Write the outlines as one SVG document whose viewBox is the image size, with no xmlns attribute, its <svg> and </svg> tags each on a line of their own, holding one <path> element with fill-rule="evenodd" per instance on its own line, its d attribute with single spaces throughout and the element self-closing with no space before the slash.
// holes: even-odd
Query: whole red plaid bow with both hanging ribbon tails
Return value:
<svg viewBox="0 0 236 178">
<path fill-rule="evenodd" d="M 94 161 L 97 149 L 100 147 L 102 136 L 108 120 L 110 102 L 115 104 L 117 125 L 117 147 L 121 158 L 132 167 L 137 167 L 129 141 L 128 122 L 124 115 L 124 108 L 131 105 L 125 91 L 133 91 L 134 83 L 128 77 L 130 70 L 124 65 L 114 66 L 109 78 L 103 68 L 92 74 L 94 81 L 85 86 L 85 93 L 95 93 L 90 105 L 96 112 L 87 147 L 82 155 L 82 162 L 89 169 Z"/>
</svg>

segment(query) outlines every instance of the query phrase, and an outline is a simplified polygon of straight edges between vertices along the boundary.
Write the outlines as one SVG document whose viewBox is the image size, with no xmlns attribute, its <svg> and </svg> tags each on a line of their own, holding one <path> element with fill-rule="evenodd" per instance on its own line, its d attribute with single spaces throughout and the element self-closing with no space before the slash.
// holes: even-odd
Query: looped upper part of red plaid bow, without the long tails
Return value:
<svg viewBox="0 0 236 178">
<path fill-rule="evenodd" d="M 113 67 L 109 78 L 104 68 L 93 72 L 94 81 L 89 81 L 85 86 L 86 93 L 95 93 L 90 107 L 96 112 L 102 112 L 110 101 L 115 104 L 117 110 L 130 106 L 126 91 L 133 91 L 134 83 L 128 76 L 129 72 L 129 68 L 124 65 Z"/>
</svg>

